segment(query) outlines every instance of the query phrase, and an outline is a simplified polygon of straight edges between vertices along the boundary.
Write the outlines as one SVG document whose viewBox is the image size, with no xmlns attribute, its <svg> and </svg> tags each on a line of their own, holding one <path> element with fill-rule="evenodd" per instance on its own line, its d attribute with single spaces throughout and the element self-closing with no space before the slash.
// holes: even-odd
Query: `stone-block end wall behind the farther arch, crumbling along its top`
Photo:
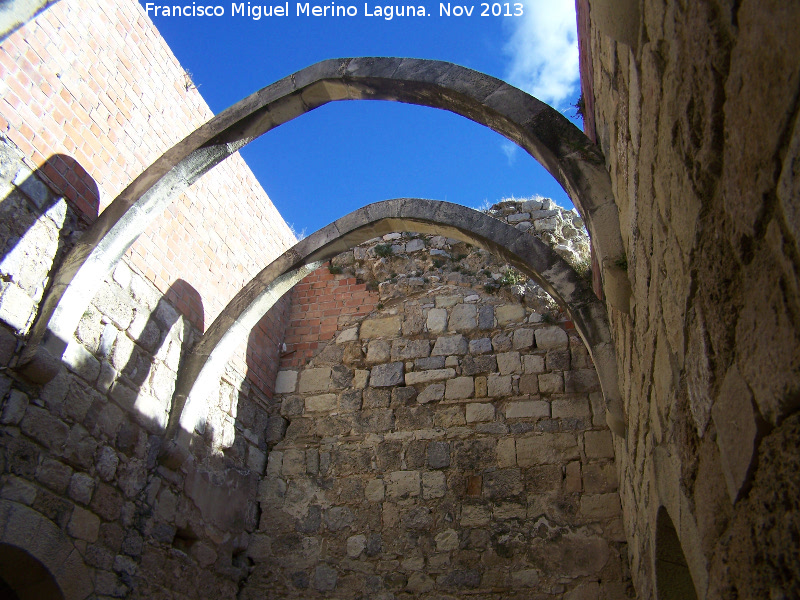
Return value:
<svg viewBox="0 0 800 600">
<path fill-rule="evenodd" d="M 586 258 L 550 201 L 492 213 Z M 387 234 L 324 269 L 293 315 L 354 276 L 375 310 L 279 373 L 243 597 L 627 597 L 599 382 L 552 300 L 441 236 Z"/>
</svg>

